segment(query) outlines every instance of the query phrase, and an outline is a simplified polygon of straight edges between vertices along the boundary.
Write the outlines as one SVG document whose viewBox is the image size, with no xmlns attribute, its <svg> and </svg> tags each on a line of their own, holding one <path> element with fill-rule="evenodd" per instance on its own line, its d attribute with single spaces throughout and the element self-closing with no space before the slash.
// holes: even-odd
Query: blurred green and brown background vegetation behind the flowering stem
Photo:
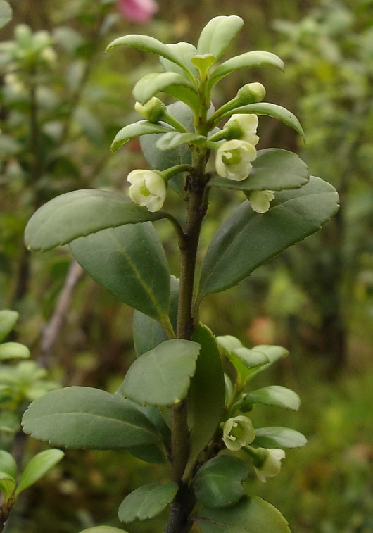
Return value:
<svg viewBox="0 0 373 533">
<path fill-rule="evenodd" d="M 339 190 L 341 210 L 239 287 L 209 296 L 201 318 L 215 334 L 291 351 L 271 377 L 301 395 L 300 412 L 263 407 L 255 420 L 289 422 L 309 444 L 289 451 L 267 484 L 253 476 L 249 490 L 282 510 L 293 533 L 373 532 L 373 1 L 159 0 L 158 13 L 142 25 L 126 20 L 113 1 L 11 4 L 14 17 L 1 40 L 12 41 L 22 23 L 47 30 L 50 45 L 39 63 L 10 58 L 0 45 L 0 308 L 20 312 L 13 339 L 64 385 L 115 391 L 134 358 L 132 310 L 71 265 L 68 248 L 31 256 L 23 246 L 27 219 L 48 199 L 84 187 L 125 190 L 129 171 L 146 168 L 138 142 L 115 155 L 110 142 L 137 120 L 131 89 L 156 58 L 126 49 L 104 56 L 106 45 L 135 32 L 196 42 L 211 17 L 236 14 L 246 25 L 229 55 L 264 49 L 286 61 L 284 74 L 262 68 L 225 78 L 215 105 L 242 84 L 262 82 L 267 101 L 298 115 L 307 145 L 263 117 L 259 147 L 298 151 L 311 174 Z M 214 193 L 201 256 L 239 201 L 232 191 Z M 176 196 L 167 202 L 179 209 Z M 177 275 L 172 232 L 162 222 L 157 228 Z M 25 456 L 42 446 L 21 444 Z M 6 532 L 118 526 L 122 498 L 163 475 L 162 467 L 127 453 L 69 451 L 25 494 Z M 161 517 L 127 529 L 156 533 L 162 525 Z"/>
</svg>

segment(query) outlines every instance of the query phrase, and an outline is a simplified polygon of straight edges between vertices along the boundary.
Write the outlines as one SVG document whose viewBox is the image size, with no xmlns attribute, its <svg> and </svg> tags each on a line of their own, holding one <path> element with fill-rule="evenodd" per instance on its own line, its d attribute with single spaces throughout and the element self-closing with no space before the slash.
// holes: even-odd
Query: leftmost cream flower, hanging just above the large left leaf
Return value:
<svg viewBox="0 0 373 533">
<path fill-rule="evenodd" d="M 131 184 L 129 198 L 134 203 L 148 208 L 151 213 L 162 208 L 167 187 L 160 173 L 155 170 L 132 170 L 127 180 Z"/>
</svg>

